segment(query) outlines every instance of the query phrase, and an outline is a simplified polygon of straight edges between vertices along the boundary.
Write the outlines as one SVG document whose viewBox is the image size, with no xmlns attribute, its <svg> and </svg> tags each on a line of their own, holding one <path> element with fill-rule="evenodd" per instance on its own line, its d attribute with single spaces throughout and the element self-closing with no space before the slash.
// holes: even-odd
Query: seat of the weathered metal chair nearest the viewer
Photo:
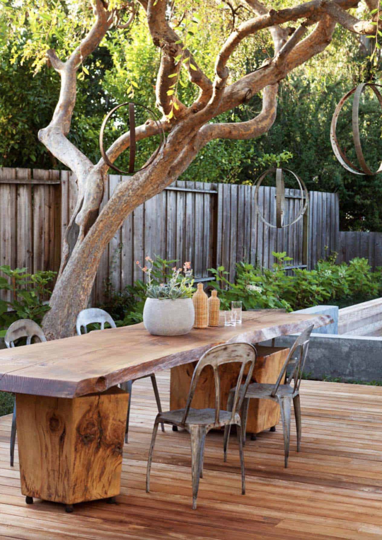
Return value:
<svg viewBox="0 0 382 540">
<path fill-rule="evenodd" d="M 189 409 L 187 415 L 187 421 L 183 424 L 183 417 L 185 416 L 186 409 L 169 410 L 165 413 L 158 415 L 159 422 L 165 422 L 165 424 L 173 424 L 174 426 L 188 428 L 193 424 L 198 426 L 214 426 L 222 427 L 231 422 L 232 413 L 228 410 L 221 410 L 219 415 L 219 424 L 215 423 L 215 409 Z M 235 413 L 235 423 L 240 423 L 240 414 Z"/>
</svg>

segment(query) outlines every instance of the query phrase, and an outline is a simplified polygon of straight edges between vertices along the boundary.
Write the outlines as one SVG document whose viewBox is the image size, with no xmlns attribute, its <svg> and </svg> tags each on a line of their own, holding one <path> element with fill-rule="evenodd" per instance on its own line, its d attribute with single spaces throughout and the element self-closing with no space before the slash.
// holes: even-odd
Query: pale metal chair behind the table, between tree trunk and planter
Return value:
<svg viewBox="0 0 382 540">
<path fill-rule="evenodd" d="M 115 322 L 113 321 L 113 318 L 111 315 L 107 313 L 104 309 L 100 309 L 97 307 L 91 307 L 87 309 L 83 309 L 83 311 L 79 312 L 77 315 L 77 321 L 76 321 L 76 329 L 77 334 L 81 335 L 81 328 L 84 329 L 84 333 L 87 334 L 87 325 L 91 325 L 94 323 L 98 323 L 101 325 L 101 330 L 104 330 L 106 322 L 112 327 L 116 328 Z M 128 398 L 128 410 L 127 410 L 127 419 L 126 419 L 126 432 L 125 432 L 125 442 L 128 442 L 128 423 L 130 419 L 130 405 L 131 405 L 131 392 L 132 392 L 132 384 L 134 381 L 138 381 L 138 379 L 145 379 L 146 377 L 151 377 L 151 383 L 153 385 L 155 400 L 156 400 L 156 406 L 158 407 L 159 413 L 162 412 L 162 406 L 160 403 L 160 397 L 159 397 L 159 391 L 158 391 L 158 384 L 156 384 L 156 377 L 154 373 L 151 373 L 150 375 L 144 375 L 143 377 L 138 377 L 137 379 L 133 379 L 131 381 L 126 381 L 120 383 L 120 387 L 125 390 L 125 392 L 128 392 L 129 398 Z M 162 431 L 165 431 L 165 426 L 162 423 Z"/>
</svg>

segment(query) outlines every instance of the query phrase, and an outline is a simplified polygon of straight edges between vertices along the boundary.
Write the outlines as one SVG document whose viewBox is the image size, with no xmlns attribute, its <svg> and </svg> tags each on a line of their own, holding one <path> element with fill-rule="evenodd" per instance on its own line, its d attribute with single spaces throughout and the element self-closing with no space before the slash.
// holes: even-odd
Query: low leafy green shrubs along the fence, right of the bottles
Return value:
<svg viewBox="0 0 382 540">
<path fill-rule="evenodd" d="M 210 269 L 215 279 L 209 285 L 218 291 L 224 309 L 229 309 L 231 301 L 241 300 L 244 309 L 295 311 L 338 301 L 350 305 L 381 294 L 382 273 L 370 272 L 367 259 L 354 258 L 349 265 L 337 265 L 335 254 L 318 261 L 313 270 L 296 268 L 293 275 L 288 275 L 285 266 L 291 258 L 285 252 L 272 254 L 276 259 L 272 269 L 238 263 L 234 283 L 228 281 L 223 266 Z"/>
</svg>

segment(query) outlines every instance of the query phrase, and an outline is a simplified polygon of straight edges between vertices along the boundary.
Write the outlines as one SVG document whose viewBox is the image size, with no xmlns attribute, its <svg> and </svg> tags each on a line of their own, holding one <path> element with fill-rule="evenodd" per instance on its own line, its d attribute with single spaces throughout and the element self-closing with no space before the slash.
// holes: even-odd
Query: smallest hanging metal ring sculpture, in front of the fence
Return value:
<svg viewBox="0 0 382 540">
<path fill-rule="evenodd" d="M 265 220 L 263 214 L 260 212 L 260 208 L 258 207 L 258 191 L 262 184 L 262 181 L 267 176 L 267 174 L 275 172 L 276 171 L 276 225 L 272 225 L 267 220 Z M 288 171 L 296 178 L 300 192 L 301 192 L 301 204 L 299 207 L 298 214 L 296 218 L 291 221 L 290 223 L 284 225 L 284 211 L 285 211 L 285 186 L 284 186 L 284 179 L 283 179 L 283 171 Z M 304 204 L 304 198 L 305 198 L 305 204 Z M 309 204 L 309 193 L 306 189 L 306 186 L 301 178 L 297 176 L 296 173 L 293 171 L 290 171 L 289 169 L 282 169 L 282 168 L 275 168 L 272 167 L 268 169 L 268 171 L 263 172 L 263 174 L 258 178 L 256 182 L 256 189 L 255 189 L 255 210 L 257 214 L 259 215 L 260 219 L 265 223 L 265 225 L 268 225 L 268 227 L 272 228 L 284 228 L 284 227 L 290 227 L 296 221 L 301 219 L 306 212 L 306 208 L 308 208 Z"/>
</svg>

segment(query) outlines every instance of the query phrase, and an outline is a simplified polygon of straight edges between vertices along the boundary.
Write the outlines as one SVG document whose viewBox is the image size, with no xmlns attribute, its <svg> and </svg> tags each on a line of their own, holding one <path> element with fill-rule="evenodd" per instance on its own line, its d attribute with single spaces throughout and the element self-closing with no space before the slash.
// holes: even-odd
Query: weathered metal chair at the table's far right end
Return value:
<svg viewBox="0 0 382 540">
<path fill-rule="evenodd" d="M 301 449 L 301 406 L 299 389 L 301 377 L 305 365 L 306 355 L 308 354 L 310 334 L 314 325 L 309 326 L 302 332 L 292 345 L 287 359 L 281 369 L 276 384 L 252 383 L 248 389 L 241 390 L 244 396 L 241 408 L 241 421 L 243 426 L 243 444 L 245 444 L 245 430 L 247 428 L 247 417 L 249 400 L 253 398 L 276 401 L 281 409 L 281 421 L 283 424 L 284 435 L 284 464 L 288 467 L 289 443 L 290 443 L 290 410 L 293 400 L 295 410 L 296 430 L 297 430 L 297 451 Z M 288 367 L 291 366 L 291 372 L 288 375 Z M 282 381 L 285 381 L 282 383 Z M 293 381 L 293 383 L 292 383 Z M 228 396 L 228 410 L 233 408 L 235 388 L 231 388 Z M 229 430 L 224 434 L 224 448 L 228 444 Z"/>
</svg>

